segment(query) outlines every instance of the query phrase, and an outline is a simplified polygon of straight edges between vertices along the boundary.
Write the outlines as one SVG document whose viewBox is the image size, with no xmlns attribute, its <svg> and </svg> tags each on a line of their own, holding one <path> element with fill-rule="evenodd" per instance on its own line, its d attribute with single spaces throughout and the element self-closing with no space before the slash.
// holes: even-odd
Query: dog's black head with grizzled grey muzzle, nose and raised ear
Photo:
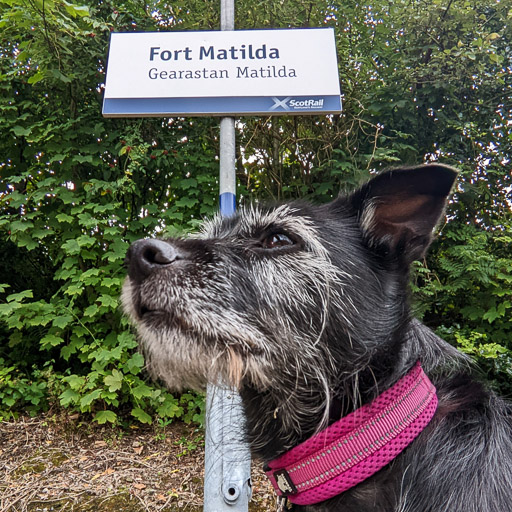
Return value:
<svg viewBox="0 0 512 512">
<path fill-rule="evenodd" d="M 455 177 L 392 170 L 329 204 L 254 206 L 194 238 L 134 243 L 123 303 L 149 368 L 172 388 L 310 390 L 318 404 L 318 389 L 384 364 Z"/>
</svg>

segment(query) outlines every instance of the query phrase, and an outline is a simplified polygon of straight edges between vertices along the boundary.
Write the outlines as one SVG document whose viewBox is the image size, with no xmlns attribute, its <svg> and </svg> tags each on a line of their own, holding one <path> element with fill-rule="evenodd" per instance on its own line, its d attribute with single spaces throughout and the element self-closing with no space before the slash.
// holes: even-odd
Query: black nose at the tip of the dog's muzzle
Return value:
<svg viewBox="0 0 512 512">
<path fill-rule="evenodd" d="M 181 251 L 171 242 L 163 240 L 137 240 L 126 254 L 128 275 L 142 281 L 155 270 L 183 259 Z"/>
</svg>

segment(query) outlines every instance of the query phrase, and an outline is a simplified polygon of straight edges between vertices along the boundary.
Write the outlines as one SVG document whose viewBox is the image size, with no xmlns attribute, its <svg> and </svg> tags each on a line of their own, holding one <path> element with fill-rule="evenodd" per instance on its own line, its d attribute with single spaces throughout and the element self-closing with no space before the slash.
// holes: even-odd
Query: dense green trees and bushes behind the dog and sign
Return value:
<svg viewBox="0 0 512 512">
<path fill-rule="evenodd" d="M 237 176 L 240 202 L 322 202 L 392 165 L 457 167 L 415 307 L 510 396 L 506 4 L 237 0 L 239 29 L 334 27 L 344 105 L 240 119 Z M 130 242 L 215 212 L 218 120 L 104 119 L 101 101 L 112 31 L 218 28 L 217 1 L 0 0 L 0 418 L 200 421 L 201 396 L 146 379 L 119 293 Z"/>
</svg>

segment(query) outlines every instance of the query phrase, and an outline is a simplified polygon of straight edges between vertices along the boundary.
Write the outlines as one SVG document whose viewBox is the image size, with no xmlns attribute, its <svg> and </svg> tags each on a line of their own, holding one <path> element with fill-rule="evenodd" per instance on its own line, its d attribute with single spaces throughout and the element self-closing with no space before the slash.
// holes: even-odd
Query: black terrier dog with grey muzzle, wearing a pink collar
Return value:
<svg viewBox="0 0 512 512">
<path fill-rule="evenodd" d="M 123 302 L 150 370 L 173 389 L 236 386 L 293 510 L 512 511 L 509 406 L 409 309 L 455 178 L 392 170 L 129 250 Z"/>
</svg>

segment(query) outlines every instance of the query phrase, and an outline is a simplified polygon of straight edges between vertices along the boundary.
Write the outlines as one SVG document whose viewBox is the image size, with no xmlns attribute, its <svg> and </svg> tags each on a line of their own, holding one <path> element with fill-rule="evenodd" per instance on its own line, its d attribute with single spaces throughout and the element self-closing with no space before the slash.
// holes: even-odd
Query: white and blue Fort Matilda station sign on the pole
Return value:
<svg viewBox="0 0 512 512">
<path fill-rule="evenodd" d="M 331 28 L 111 35 L 106 117 L 340 111 Z"/>
</svg>

